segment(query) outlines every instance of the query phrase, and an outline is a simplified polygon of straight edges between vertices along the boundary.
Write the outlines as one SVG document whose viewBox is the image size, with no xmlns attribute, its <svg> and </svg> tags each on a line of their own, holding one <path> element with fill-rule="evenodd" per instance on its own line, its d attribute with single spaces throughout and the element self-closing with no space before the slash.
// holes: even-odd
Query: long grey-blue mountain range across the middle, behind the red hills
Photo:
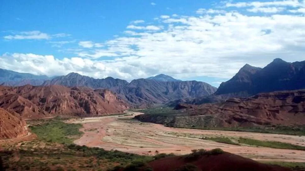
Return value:
<svg viewBox="0 0 305 171">
<path fill-rule="evenodd" d="M 159 81 L 137 79 L 128 83 L 125 80 L 108 77 L 94 79 L 77 73 L 59 76 L 45 81 L 43 85 L 64 85 L 68 87 L 85 86 L 93 89 L 103 88 L 113 91 L 128 101 L 131 106 L 147 107 L 186 97 L 213 94 L 217 88 L 199 81 Z"/>
</svg>

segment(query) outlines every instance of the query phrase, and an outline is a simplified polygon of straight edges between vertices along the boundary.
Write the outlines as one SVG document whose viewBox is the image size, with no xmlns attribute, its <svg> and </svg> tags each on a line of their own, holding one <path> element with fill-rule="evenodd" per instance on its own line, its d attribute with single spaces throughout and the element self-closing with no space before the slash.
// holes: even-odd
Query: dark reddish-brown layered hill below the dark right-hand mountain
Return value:
<svg viewBox="0 0 305 171">
<path fill-rule="evenodd" d="M 261 93 L 221 103 L 175 107 L 180 113 L 136 116 L 144 122 L 173 127 L 253 127 L 305 124 L 305 90 Z"/>
</svg>

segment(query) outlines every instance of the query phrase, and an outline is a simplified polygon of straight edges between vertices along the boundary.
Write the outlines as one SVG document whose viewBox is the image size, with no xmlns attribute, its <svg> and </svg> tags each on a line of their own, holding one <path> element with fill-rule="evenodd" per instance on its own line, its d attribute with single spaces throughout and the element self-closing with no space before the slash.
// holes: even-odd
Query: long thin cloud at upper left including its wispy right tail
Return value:
<svg viewBox="0 0 305 171">
<path fill-rule="evenodd" d="M 67 37 L 71 34 L 59 33 L 49 35 L 47 33 L 42 33 L 41 31 L 24 31 L 19 33 L 14 33 L 14 35 L 4 36 L 4 39 L 12 40 L 12 39 L 51 39 L 51 38 L 58 38 L 58 37 Z"/>
</svg>

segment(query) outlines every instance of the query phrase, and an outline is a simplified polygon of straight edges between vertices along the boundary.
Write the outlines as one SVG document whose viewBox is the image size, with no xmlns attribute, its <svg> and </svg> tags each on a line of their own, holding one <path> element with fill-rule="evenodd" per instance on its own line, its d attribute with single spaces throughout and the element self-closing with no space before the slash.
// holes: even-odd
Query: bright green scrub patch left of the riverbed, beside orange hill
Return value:
<svg viewBox="0 0 305 171">
<path fill-rule="evenodd" d="M 81 124 L 68 124 L 62 120 L 55 119 L 30 128 L 38 136 L 39 140 L 50 143 L 70 144 L 83 134 L 83 132 L 79 131 L 81 127 Z"/>
</svg>

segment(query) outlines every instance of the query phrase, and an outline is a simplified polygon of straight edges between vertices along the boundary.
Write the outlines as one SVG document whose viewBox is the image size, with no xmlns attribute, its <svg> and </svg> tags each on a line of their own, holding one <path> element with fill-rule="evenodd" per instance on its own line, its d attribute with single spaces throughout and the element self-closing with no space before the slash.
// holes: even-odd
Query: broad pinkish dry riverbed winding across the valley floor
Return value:
<svg viewBox="0 0 305 171">
<path fill-rule="evenodd" d="M 200 137 L 223 135 L 226 137 L 249 137 L 260 140 L 280 141 L 305 146 L 304 136 L 172 128 L 159 124 L 119 119 L 132 118 L 141 113 L 129 112 L 129 114 L 133 114 L 133 116 L 106 116 L 70 120 L 69 122 L 82 123 L 84 128 L 81 131 L 85 132 L 74 143 L 89 147 L 100 147 L 106 150 L 117 149 L 145 155 L 154 155 L 156 151 L 159 153 L 186 154 L 190 153 L 192 149 L 222 148 L 227 152 L 255 160 L 305 162 L 305 151 L 246 145 L 236 146 L 199 139 Z"/>
</svg>

